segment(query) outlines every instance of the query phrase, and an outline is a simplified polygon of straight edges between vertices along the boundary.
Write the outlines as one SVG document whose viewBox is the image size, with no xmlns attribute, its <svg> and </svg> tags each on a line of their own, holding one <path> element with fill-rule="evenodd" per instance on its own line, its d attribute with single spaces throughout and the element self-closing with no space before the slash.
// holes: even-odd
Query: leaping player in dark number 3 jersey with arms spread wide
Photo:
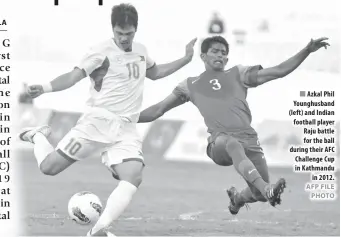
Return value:
<svg viewBox="0 0 341 237">
<path fill-rule="evenodd" d="M 231 214 L 236 215 L 247 203 L 280 204 L 286 182 L 280 178 L 270 183 L 266 159 L 257 132 L 251 126 L 247 91 L 285 77 L 312 52 L 327 48 L 326 40 L 312 39 L 299 53 L 274 67 L 237 65 L 225 70 L 229 44 L 221 36 L 207 38 L 201 45 L 206 70 L 182 81 L 167 98 L 142 111 L 139 123 L 154 121 L 170 109 L 191 101 L 204 117 L 210 133 L 207 155 L 218 165 L 233 165 L 248 184 L 240 192 L 235 187 L 227 190 Z"/>
</svg>

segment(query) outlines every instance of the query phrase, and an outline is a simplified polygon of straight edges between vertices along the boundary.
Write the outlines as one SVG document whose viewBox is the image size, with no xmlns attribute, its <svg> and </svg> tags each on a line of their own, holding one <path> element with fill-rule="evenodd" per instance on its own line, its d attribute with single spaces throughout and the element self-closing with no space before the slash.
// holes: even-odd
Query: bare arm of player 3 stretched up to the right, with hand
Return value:
<svg viewBox="0 0 341 237">
<path fill-rule="evenodd" d="M 328 40 L 328 38 L 319 38 L 317 40 L 312 39 L 306 47 L 288 60 L 275 67 L 259 70 L 257 77 L 255 77 L 256 82 L 253 82 L 253 84 L 261 85 L 266 82 L 285 77 L 289 73 L 293 72 L 312 52 L 315 52 L 322 47 L 327 48 L 329 44 L 325 42 L 326 40 Z"/>
</svg>

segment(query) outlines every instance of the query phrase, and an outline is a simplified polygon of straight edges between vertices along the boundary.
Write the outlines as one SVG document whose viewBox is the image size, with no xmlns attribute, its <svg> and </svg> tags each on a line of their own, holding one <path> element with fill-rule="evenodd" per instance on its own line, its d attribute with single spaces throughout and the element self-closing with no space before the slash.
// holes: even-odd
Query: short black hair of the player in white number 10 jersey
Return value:
<svg viewBox="0 0 341 237">
<path fill-rule="evenodd" d="M 111 25 L 114 28 L 116 25 L 124 27 L 132 25 L 137 30 L 138 14 L 136 8 L 128 3 L 121 3 L 112 8 L 111 11 Z"/>
</svg>

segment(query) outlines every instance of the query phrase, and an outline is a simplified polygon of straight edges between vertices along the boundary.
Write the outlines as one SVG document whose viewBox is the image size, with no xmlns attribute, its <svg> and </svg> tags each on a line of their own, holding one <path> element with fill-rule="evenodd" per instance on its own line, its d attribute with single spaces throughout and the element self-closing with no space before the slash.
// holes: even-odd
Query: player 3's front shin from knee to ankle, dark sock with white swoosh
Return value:
<svg viewBox="0 0 341 237">
<path fill-rule="evenodd" d="M 254 164 L 246 156 L 244 148 L 237 141 L 231 141 L 227 144 L 226 150 L 233 160 L 233 165 L 237 172 L 241 174 L 246 181 L 253 184 L 263 195 L 265 187 L 268 185 L 257 171 Z"/>
</svg>

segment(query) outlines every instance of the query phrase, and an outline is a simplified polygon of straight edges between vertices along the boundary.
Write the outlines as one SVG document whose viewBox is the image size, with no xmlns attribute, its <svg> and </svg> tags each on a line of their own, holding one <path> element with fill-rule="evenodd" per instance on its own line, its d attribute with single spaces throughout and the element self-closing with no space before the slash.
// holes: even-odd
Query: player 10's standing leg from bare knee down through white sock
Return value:
<svg viewBox="0 0 341 237">
<path fill-rule="evenodd" d="M 117 220 L 128 207 L 142 182 L 143 167 L 142 160 L 134 159 L 111 166 L 120 182 L 110 194 L 102 215 L 89 231 L 88 236 L 103 236 L 106 234 L 112 222 Z"/>
</svg>

